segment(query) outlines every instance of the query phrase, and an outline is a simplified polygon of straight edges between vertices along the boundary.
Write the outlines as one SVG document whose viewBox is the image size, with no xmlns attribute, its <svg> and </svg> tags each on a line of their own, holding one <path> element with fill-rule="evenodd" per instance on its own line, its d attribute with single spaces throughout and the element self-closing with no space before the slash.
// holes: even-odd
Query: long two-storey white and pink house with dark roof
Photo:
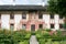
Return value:
<svg viewBox="0 0 66 44">
<path fill-rule="evenodd" d="M 0 29 L 36 31 L 63 29 L 64 18 L 42 6 L 0 6 Z"/>
</svg>

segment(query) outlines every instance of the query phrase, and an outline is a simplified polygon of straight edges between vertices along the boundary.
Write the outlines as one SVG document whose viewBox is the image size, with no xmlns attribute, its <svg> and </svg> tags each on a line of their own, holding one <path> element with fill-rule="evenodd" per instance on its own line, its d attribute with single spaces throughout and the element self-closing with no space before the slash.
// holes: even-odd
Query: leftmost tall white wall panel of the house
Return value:
<svg viewBox="0 0 66 44">
<path fill-rule="evenodd" d="M 1 14 L 1 28 L 2 29 L 10 29 L 9 20 L 10 20 L 10 14 Z"/>
</svg>

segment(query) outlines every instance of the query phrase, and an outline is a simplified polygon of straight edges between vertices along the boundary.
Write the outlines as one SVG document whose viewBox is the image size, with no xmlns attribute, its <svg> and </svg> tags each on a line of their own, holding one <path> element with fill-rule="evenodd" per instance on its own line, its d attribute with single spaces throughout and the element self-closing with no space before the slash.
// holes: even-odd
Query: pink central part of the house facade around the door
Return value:
<svg viewBox="0 0 66 44">
<path fill-rule="evenodd" d="M 34 12 L 33 12 L 34 13 Z M 45 24 L 45 22 L 41 19 L 38 19 L 38 14 L 36 13 L 31 13 L 29 14 L 29 20 L 22 20 L 21 23 L 22 24 L 26 24 L 26 30 L 31 30 L 33 29 L 34 31 L 36 31 L 37 29 L 42 29 Z M 40 24 L 43 24 L 42 28 L 38 28 Z"/>
</svg>

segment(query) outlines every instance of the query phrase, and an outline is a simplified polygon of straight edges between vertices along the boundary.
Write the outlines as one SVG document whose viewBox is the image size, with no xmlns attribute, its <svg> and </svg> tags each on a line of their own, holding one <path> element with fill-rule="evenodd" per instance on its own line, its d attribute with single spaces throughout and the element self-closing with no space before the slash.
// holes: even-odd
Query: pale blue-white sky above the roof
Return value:
<svg viewBox="0 0 66 44">
<path fill-rule="evenodd" d="M 42 4 L 43 0 L 0 0 L 1 4 Z M 47 0 L 44 0 L 44 4 L 47 3 Z"/>
</svg>

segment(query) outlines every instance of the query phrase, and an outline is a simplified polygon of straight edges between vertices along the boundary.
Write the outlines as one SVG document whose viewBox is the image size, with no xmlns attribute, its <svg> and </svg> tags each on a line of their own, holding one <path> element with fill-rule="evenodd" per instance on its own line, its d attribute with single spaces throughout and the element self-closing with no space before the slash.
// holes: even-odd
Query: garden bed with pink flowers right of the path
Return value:
<svg viewBox="0 0 66 44">
<path fill-rule="evenodd" d="M 35 32 L 36 38 L 40 44 L 66 44 L 66 36 L 62 31 L 38 30 Z"/>
</svg>

